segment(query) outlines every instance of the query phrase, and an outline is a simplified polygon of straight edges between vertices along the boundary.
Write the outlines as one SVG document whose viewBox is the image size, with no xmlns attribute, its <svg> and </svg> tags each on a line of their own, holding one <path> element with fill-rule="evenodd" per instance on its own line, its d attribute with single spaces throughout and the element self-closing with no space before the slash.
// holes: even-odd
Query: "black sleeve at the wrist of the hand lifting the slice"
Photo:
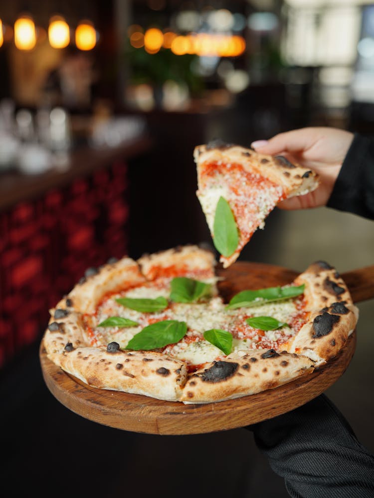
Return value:
<svg viewBox="0 0 374 498">
<path fill-rule="evenodd" d="M 326 205 L 374 220 L 374 138 L 355 134 Z"/>
</svg>

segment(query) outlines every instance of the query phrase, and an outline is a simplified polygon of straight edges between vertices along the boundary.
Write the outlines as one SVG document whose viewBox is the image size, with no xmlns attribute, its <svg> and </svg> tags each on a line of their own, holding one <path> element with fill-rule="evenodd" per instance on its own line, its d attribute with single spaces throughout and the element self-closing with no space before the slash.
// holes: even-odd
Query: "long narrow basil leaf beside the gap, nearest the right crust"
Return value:
<svg viewBox="0 0 374 498">
<path fill-rule="evenodd" d="M 243 290 L 230 300 L 226 308 L 246 308 L 273 301 L 281 301 L 282 299 L 290 299 L 291 297 L 302 294 L 304 288 L 305 284 L 290 287 L 268 287 L 267 289 Z"/>
</svg>

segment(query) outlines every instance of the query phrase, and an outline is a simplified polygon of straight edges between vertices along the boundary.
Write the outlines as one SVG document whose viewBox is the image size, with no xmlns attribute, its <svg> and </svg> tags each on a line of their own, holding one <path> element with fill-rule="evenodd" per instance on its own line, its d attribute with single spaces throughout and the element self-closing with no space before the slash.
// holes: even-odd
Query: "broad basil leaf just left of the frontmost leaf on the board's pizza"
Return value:
<svg viewBox="0 0 374 498">
<path fill-rule="evenodd" d="M 177 343 L 186 335 L 187 323 L 178 320 L 163 320 L 144 327 L 130 339 L 126 349 L 149 351 Z"/>
</svg>

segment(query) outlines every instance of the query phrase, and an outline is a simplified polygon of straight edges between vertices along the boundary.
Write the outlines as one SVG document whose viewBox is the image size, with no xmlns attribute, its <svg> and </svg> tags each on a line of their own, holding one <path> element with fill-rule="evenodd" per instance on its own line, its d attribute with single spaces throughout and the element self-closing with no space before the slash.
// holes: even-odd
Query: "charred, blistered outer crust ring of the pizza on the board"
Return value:
<svg viewBox="0 0 374 498">
<path fill-rule="evenodd" d="M 50 310 L 43 337 L 48 358 L 93 387 L 209 403 L 254 394 L 313 372 L 339 353 L 356 326 L 358 310 L 346 284 L 335 268 L 317 261 L 294 282 L 305 284 L 309 316 L 285 351 L 238 351 L 187 373 L 184 361 L 159 351 L 123 351 L 114 342 L 92 346 L 84 317 L 105 293 L 170 276 L 168 268 L 209 278 L 214 275 L 214 265 L 211 251 L 185 246 L 145 255 L 138 261 L 126 257 L 91 271 Z M 104 290 L 96 288 L 102 285 Z"/>
</svg>

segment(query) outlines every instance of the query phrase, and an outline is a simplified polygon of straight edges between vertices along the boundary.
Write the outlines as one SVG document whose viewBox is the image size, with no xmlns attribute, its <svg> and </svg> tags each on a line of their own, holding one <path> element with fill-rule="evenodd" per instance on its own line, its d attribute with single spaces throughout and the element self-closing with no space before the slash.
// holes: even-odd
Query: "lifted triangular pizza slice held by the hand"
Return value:
<svg viewBox="0 0 374 498">
<path fill-rule="evenodd" d="M 307 194 L 318 175 L 283 156 L 215 140 L 194 148 L 197 198 L 224 268 L 283 199 Z"/>
</svg>

